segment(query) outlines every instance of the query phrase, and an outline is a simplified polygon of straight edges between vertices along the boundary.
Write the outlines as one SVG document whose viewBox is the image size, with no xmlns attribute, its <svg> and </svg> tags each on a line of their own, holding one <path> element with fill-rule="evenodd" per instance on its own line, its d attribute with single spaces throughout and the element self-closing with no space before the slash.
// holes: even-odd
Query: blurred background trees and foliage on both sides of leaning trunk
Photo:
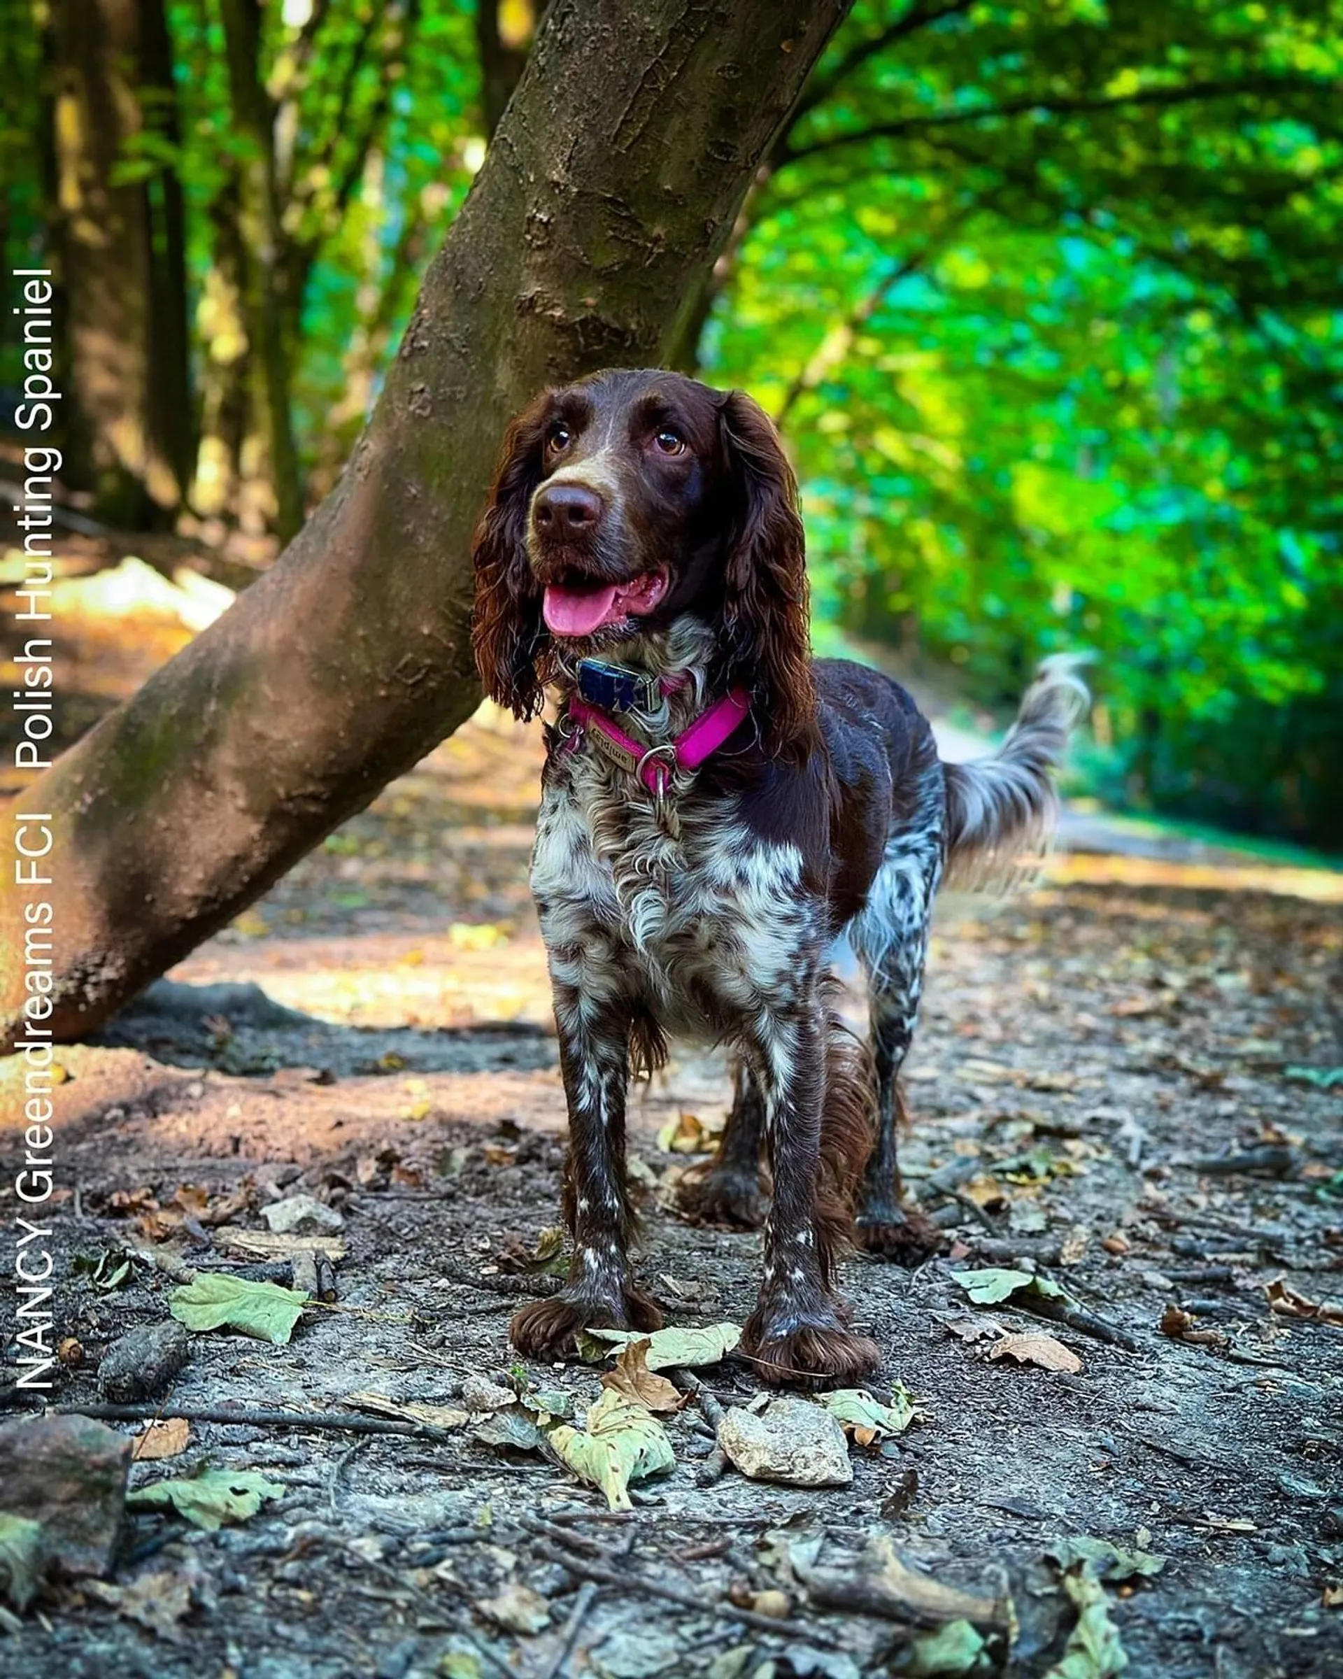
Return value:
<svg viewBox="0 0 1343 1679">
<path fill-rule="evenodd" d="M 537 12 L 12 8 L 77 505 L 297 529 Z M 1341 163 L 1340 0 L 860 0 L 668 344 L 784 426 L 821 640 L 1095 648 L 1096 791 L 1343 848 Z"/>
</svg>

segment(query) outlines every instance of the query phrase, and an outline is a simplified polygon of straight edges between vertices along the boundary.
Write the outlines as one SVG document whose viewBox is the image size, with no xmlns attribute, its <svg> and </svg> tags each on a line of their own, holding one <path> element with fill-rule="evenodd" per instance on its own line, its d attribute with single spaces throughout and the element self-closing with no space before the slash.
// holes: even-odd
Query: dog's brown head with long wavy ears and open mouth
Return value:
<svg viewBox="0 0 1343 1679">
<path fill-rule="evenodd" d="M 519 717 L 557 655 L 692 618 L 710 680 L 749 688 L 772 751 L 809 745 L 816 702 L 797 485 L 764 411 L 677 373 L 544 391 L 509 426 L 475 539 L 475 658 Z"/>
</svg>

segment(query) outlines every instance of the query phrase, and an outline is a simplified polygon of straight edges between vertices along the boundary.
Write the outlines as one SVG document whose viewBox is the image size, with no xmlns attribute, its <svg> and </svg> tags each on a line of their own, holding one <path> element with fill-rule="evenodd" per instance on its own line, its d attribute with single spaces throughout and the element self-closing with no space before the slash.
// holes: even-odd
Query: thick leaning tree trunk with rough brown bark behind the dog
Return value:
<svg viewBox="0 0 1343 1679">
<path fill-rule="evenodd" d="M 24 794 L 76 1036 L 480 698 L 472 526 L 510 415 L 656 363 L 848 0 L 556 0 L 378 410 L 284 557 Z M 10 893 L 13 897 L 13 893 Z M 18 905 L 0 1016 L 18 1031 Z"/>
</svg>

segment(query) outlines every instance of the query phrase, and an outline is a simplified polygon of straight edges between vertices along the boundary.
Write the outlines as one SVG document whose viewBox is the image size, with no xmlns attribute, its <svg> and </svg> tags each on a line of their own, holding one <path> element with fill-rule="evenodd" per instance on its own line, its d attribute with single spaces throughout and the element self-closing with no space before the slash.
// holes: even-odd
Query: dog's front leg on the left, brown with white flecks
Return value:
<svg viewBox="0 0 1343 1679">
<path fill-rule="evenodd" d="M 536 1300 L 514 1316 L 514 1347 L 532 1358 L 571 1353 L 574 1335 L 586 1328 L 661 1326 L 661 1313 L 630 1276 L 635 1216 L 624 1182 L 628 1012 L 618 1006 L 584 1007 L 579 987 L 559 979 L 554 997 L 569 1105 L 564 1219 L 574 1237 L 574 1258 L 557 1295 Z"/>
</svg>

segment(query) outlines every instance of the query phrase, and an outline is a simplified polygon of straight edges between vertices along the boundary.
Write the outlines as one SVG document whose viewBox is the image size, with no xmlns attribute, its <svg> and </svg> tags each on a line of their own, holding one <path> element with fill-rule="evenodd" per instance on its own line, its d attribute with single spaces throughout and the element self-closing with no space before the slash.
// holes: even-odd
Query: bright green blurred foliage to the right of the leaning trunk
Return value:
<svg viewBox="0 0 1343 1679">
<path fill-rule="evenodd" d="M 1340 22 L 860 7 L 705 354 L 789 433 L 821 615 L 994 704 L 1093 648 L 1101 791 L 1335 845 Z"/>
</svg>

